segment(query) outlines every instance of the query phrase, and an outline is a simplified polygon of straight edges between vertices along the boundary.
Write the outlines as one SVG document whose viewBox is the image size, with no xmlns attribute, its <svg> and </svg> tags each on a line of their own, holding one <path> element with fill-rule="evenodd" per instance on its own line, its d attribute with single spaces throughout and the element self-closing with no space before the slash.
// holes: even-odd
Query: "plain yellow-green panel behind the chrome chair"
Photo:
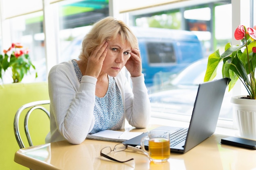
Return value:
<svg viewBox="0 0 256 170">
<path fill-rule="evenodd" d="M 13 161 L 14 154 L 19 150 L 16 141 L 13 120 L 18 108 L 28 102 L 49 100 L 47 82 L 40 83 L 12 83 L 0 85 L 0 169 L 1 170 L 28 170 Z M 49 107 L 47 108 L 49 109 Z M 22 140 L 29 146 L 24 133 L 24 116 L 20 118 L 19 129 L 22 131 Z M 31 114 L 29 118 L 29 132 L 34 145 L 44 144 L 49 132 L 49 118 L 45 113 Z"/>
</svg>

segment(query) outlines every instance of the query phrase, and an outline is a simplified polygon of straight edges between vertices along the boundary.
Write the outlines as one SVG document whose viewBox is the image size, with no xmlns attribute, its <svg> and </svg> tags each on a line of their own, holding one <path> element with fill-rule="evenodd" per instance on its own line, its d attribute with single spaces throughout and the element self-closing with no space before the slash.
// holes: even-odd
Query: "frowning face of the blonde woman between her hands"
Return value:
<svg viewBox="0 0 256 170">
<path fill-rule="evenodd" d="M 116 39 L 108 41 L 108 52 L 103 61 L 101 72 L 115 77 L 121 71 L 130 57 L 131 46 L 125 41 L 122 44 L 121 36 L 118 35 Z"/>
</svg>

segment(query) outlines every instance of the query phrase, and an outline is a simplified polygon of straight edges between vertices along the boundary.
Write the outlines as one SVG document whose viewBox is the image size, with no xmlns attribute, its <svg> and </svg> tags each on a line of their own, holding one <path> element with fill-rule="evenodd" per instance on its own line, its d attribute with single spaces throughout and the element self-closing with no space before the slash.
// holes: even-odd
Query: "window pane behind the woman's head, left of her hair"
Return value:
<svg viewBox="0 0 256 170">
<path fill-rule="evenodd" d="M 66 0 L 58 3 L 58 63 L 78 59 L 82 40 L 95 21 L 108 16 L 108 0 Z"/>
</svg>

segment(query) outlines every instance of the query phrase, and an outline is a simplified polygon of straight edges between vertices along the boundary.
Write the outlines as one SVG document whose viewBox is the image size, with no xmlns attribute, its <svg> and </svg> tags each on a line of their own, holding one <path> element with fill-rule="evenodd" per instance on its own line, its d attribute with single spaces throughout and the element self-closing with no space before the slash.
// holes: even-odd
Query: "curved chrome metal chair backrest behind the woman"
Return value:
<svg viewBox="0 0 256 170">
<path fill-rule="evenodd" d="M 20 131 L 19 131 L 20 114 L 22 113 L 23 110 L 29 109 L 26 113 L 26 116 L 25 116 L 24 129 L 25 129 L 25 134 L 27 136 L 29 146 L 33 146 L 33 143 L 31 141 L 31 137 L 30 137 L 30 134 L 29 134 L 29 129 L 28 129 L 29 116 L 34 110 L 40 109 L 40 110 L 42 110 L 43 112 L 45 112 L 47 114 L 48 118 L 50 118 L 49 111 L 47 109 L 45 109 L 45 107 L 42 106 L 42 105 L 47 105 L 47 104 L 49 105 L 49 103 L 50 103 L 50 100 L 40 100 L 40 101 L 35 101 L 35 102 L 29 102 L 25 105 L 22 105 L 18 109 L 18 111 L 16 112 L 16 115 L 14 117 L 13 127 L 14 127 L 15 137 L 16 137 L 16 140 L 17 140 L 18 145 L 20 146 L 20 148 L 25 148 L 25 145 L 24 145 L 24 143 L 21 139 Z"/>
</svg>

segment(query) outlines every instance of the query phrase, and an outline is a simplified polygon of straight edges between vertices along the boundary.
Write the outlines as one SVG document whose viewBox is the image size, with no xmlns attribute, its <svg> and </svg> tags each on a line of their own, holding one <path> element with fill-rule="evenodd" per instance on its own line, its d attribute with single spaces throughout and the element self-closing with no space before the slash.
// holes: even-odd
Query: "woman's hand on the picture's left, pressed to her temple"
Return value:
<svg viewBox="0 0 256 170">
<path fill-rule="evenodd" d="M 103 61 L 105 60 L 106 54 L 108 52 L 108 42 L 104 41 L 101 45 L 94 49 L 92 54 L 88 57 L 88 63 L 85 71 L 85 75 L 93 76 L 98 78 Z"/>
</svg>

